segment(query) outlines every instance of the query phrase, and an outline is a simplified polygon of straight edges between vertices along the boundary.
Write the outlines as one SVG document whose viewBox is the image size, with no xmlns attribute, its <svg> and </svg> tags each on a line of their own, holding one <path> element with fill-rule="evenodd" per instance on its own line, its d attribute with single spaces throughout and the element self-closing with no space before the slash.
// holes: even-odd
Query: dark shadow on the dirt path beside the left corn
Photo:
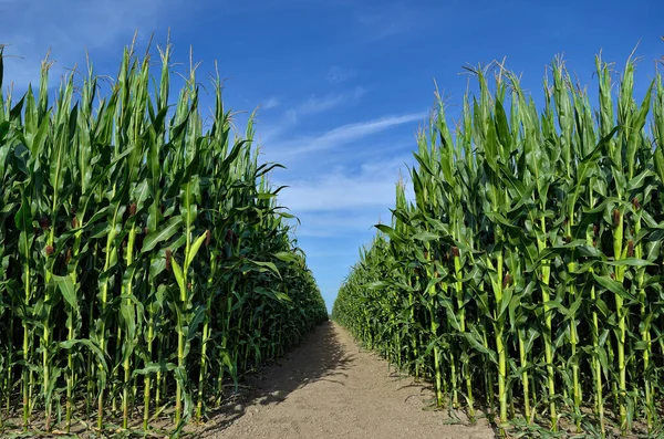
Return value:
<svg viewBox="0 0 664 439">
<path fill-rule="evenodd" d="M 221 433 L 236 420 L 250 416 L 248 407 L 281 404 L 309 383 L 328 380 L 343 386 L 335 377 L 346 376 L 344 370 L 354 359 L 355 356 L 342 347 L 333 323 L 324 322 L 282 359 L 248 376 L 237 394 L 208 412 L 209 420 L 205 425 L 190 426 L 186 431 L 195 437 Z"/>
</svg>

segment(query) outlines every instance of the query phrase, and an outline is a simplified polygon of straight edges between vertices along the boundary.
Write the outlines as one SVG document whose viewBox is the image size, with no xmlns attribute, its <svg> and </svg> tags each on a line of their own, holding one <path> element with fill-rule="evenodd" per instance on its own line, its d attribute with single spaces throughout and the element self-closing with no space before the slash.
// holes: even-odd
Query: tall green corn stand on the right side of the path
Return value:
<svg viewBox="0 0 664 439">
<path fill-rule="evenodd" d="M 540 109 L 501 64 L 468 69 L 454 125 L 436 93 L 414 197 L 396 185 L 334 303 L 438 407 L 504 435 L 662 437 L 664 85 L 634 96 L 631 59 L 595 67 L 594 106 L 561 59 Z"/>
</svg>

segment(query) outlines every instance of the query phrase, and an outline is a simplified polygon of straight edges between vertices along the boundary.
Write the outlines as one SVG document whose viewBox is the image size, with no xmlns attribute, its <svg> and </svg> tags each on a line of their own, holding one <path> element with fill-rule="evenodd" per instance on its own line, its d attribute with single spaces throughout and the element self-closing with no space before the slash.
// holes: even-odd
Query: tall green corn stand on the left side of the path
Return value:
<svg viewBox="0 0 664 439">
<path fill-rule="evenodd" d="M 195 65 L 173 102 L 172 46 L 157 77 L 133 48 L 52 102 L 48 61 L 15 97 L 0 56 L 0 433 L 177 433 L 328 318 L 253 114 L 234 134 Z"/>
</svg>

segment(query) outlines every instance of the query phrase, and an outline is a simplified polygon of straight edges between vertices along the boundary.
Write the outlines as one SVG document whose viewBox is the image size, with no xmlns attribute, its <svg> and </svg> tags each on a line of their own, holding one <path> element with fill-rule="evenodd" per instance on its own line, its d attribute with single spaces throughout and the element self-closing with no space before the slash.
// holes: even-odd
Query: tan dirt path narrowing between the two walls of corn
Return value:
<svg viewBox="0 0 664 439">
<path fill-rule="evenodd" d="M 251 377 L 249 390 L 196 436 L 208 438 L 494 438 L 486 427 L 445 424 L 423 410 L 430 389 L 398 377 L 328 322 L 280 365 Z"/>
</svg>

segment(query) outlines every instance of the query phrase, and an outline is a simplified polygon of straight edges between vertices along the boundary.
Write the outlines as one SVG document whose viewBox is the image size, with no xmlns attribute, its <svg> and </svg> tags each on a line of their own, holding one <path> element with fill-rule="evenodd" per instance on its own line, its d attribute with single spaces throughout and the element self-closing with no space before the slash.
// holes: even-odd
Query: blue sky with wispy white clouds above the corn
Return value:
<svg viewBox="0 0 664 439">
<path fill-rule="evenodd" d="M 538 98 L 547 64 L 563 54 L 593 90 L 594 55 L 602 51 L 620 69 L 639 43 L 643 93 L 664 54 L 658 3 L 0 0 L 0 43 L 20 56 L 6 60 L 4 74 L 18 90 L 35 83 L 49 48 L 54 77 L 84 65 L 84 48 L 98 73 L 115 74 L 136 29 L 143 49 L 153 32 L 163 44 L 170 28 L 176 60 L 187 63 L 193 46 L 200 77 L 217 61 L 227 104 L 236 112 L 261 106 L 262 158 L 288 167 L 272 180 L 290 186 L 280 201 L 302 221 L 299 244 L 331 307 L 372 224 L 388 221 L 395 181 L 407 176 L 414 136 L 434 104 L 434 81 L 454 113 L 468 81 L 461 67 L 507 56 Z"/>
</svg>

